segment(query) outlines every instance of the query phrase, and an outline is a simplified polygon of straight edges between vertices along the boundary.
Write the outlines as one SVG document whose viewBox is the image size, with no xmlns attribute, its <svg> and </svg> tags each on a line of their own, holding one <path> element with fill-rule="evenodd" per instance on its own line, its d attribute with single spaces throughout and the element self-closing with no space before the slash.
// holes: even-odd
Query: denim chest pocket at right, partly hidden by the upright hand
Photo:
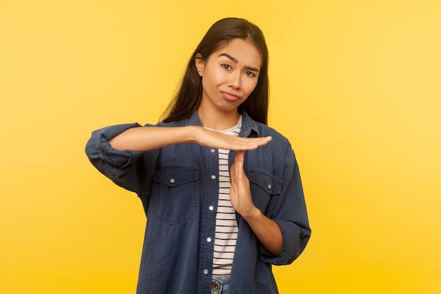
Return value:
<svg viewBox="0 0 441 294">
<path fill-rule="evenodd" d="M 254 205 L 271 217 L 275 200 L 282 190 L 282 180 L 256 170 L 248 171 L 248 180 Z"/>
</svg>

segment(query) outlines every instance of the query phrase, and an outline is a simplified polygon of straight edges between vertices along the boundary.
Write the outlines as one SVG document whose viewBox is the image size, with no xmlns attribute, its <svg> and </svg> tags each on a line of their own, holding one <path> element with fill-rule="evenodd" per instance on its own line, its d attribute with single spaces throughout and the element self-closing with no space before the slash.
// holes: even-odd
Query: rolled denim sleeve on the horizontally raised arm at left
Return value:
<svg viewBox="0 0 441 294">
<path fill-rule="evenodd" d="M 125 130 L 140 126 L 128 123 L 94 130 L 85 151 L 92 164 L 113 183 L 143 195 L 151 185 L 159 149 L 150 152 L 120 151 L 113 149 L 108 142 Z"/>
</svg>

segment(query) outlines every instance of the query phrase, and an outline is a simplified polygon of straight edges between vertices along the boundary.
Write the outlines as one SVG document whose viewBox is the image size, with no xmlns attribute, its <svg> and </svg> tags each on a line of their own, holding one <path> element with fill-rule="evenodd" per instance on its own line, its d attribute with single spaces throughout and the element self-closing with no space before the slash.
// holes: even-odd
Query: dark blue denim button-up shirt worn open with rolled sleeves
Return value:
<svg viewBox="0 0 441 294">
<path fill-rule="evenodd" d="M 201 125 L 190 118 L 157 126 Z M 112 137 L 138 123 L 95 130 L 86 153 L 94 166 L 121 187 L 137 193 L 147 215 L 138 294 L 209 294 L 218 203 L 218 149 L 194 143 L 149 152 L 118 151 Z M 146 125 L 149 127 L 151 125 Z M 278 293 L 271 265 L 290 264 L 304 250 L 311 229 L 297 161 L 290 142 L 242 114 L 241 137 L 273 136 L 245 152 L 244 171 L 254 205 L 282 231 L 279 256 L 268 252 L 239 214 L 230 294 Z M 229 164 L 235 152 L 230 152 Z"/>
</svg>

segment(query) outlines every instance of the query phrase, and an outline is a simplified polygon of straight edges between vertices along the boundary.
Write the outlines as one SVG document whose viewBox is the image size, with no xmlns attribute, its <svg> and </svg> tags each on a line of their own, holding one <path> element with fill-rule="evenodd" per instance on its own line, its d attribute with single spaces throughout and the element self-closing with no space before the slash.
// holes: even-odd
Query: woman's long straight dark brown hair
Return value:
<svg viewBox="0 0 441 294">
<path fill-rule="evenodd" d="M 202 97 L 202 80 L 197 73 L 194 62 L 197 54 L 206 61 L 213 52 L 225 46 L 232 39 L 249 40 L 259 50 L 262 58 L 259 80 L 253 92 L 239 111 L 247 114 L 261 123 L 268 123 L 268 48 L 263 32 L 248 20 L 242 18 L 224 18 L 214 23 L 206 32 L 187 65 L 182 83 L 163 113 L 163 122 L 180 121 L 188 118 L 198 107 Z"/>
</svg>

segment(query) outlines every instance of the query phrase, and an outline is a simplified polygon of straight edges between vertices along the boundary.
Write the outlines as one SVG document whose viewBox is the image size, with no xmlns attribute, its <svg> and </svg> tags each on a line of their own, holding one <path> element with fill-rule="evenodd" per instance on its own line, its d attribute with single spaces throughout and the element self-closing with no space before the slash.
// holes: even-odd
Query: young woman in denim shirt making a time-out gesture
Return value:
<svg viewBox="0 0 441 294">
<path fill-rule="evenodd" d="M 290 142 L 269 128 L 268 50 L 259 27 L 215 23 L 156 125 L 92 133 L 86 152 L 147 215 L 139 294 L 278 293 L 311 235 Z"/>
</svg>

